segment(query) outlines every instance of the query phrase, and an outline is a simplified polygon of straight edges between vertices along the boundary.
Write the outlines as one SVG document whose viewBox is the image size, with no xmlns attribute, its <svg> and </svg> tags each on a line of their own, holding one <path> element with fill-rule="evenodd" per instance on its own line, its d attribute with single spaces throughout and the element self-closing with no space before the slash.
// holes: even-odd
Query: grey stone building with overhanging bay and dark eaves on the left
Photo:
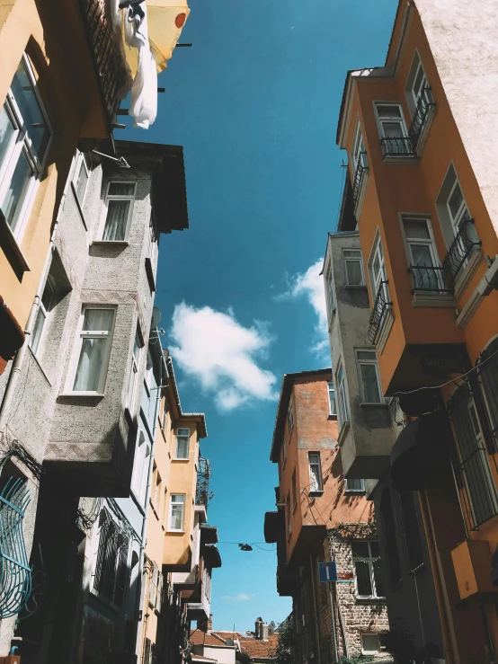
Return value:
<svg viewBox="0 0 498 664">
<path fill-rule="evenodd" d="M 142 517 L 130 511 L 129 495 L 138 436 L 147 432 L 144 411 L 157 401 L 149 393 L 147 406 L 142 385 L 155 375 L 147 343 L 158 242 L 188 227 L 186 185 L 182 147 L 116 141 L 116 153 L 111 143 L 98 149 L 109 156 L 75 157 L 29 341 L 0 377 L 0 436 L 11 457 L 0 481 L 19 477 L 31 495 L 23 535 L 36 591 L 20 606 L 26 619 L 15 635 L 15 617 L 2 620 L 0 651 L 12 643 L 26 664 L 89 661 L 80 626 L 86 620 L 93 635 L 102 626 L 84 616 L 85 556 L 104 521 L 119 531 L 121 552 L 102 611 L 109 623 L 121 624 L 110 629 L 105 661 L 111 653 L 135 661 L 138 612 L 125 607 L 124 587 L 141 555 L 132 540 L 141 536 Z M 100 661 L 95 657 L 93 664 Z"/>
</svg>

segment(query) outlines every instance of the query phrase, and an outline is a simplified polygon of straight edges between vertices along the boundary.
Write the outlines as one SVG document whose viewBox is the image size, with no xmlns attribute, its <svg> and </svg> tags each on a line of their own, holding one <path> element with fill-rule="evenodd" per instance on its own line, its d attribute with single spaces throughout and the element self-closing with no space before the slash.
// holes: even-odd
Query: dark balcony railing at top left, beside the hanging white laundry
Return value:
<svg viewBox="0 0 498 664">
<path fill-rule="evenodd" d="M 124 68 L 120 65 L 120 55 L 114 48 L 105 0 L 79 0 L 79 2 L 102 101 L 111 124 L 120 106 L 118 91 L 124 83 Z"/>
</svg>

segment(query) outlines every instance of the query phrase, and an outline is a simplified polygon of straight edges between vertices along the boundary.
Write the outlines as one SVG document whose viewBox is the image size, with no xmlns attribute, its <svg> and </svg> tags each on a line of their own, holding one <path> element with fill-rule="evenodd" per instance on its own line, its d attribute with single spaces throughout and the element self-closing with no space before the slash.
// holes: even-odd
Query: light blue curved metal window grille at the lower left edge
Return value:
<svg viewBox="0 0 498 664">
<path fill-rule="evenodd" d="M 31 569 L 22 533 L 28 483 L 13 477 L 0 493 L 0 618 L 17 615 L 31 595 Z"/>
</svg>

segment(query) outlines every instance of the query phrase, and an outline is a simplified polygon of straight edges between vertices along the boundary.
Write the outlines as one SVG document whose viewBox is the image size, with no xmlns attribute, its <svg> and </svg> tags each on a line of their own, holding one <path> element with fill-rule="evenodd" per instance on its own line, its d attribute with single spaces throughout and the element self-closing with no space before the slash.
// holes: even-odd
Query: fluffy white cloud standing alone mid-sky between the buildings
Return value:
<svg viewBox="0 0 498 664">
<path fill-rule="evenodd" d="M 224 314 L 182 302 L 174 307 L 171 337 L 173 358 L 206 392 L 215 394 L 220 410 L 277 398 L 276 376 L 257 363 L 266 357 L 271 343 L 263 323 L 244 327 L 232 310 Z"/>
</svg>

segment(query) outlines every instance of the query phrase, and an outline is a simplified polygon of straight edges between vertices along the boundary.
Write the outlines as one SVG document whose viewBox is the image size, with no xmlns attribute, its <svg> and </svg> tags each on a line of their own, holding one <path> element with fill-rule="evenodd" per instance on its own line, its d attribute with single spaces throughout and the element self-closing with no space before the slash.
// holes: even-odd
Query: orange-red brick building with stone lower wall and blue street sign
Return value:
<svg viewBox="0 0 498 664">
<path fill-rule="evenodd" d="M 379 654 L 387 631 L 373 505 L 364 480 L 342 472 L 341 399 L 330 368 L 286 374 L 271 443 L 279 486 L 264 536 L 277 544 L 277 590 L 292 598 L 299 664 Z M 320 571 L 330 561 L 338 582 Z"/>
</svg>

